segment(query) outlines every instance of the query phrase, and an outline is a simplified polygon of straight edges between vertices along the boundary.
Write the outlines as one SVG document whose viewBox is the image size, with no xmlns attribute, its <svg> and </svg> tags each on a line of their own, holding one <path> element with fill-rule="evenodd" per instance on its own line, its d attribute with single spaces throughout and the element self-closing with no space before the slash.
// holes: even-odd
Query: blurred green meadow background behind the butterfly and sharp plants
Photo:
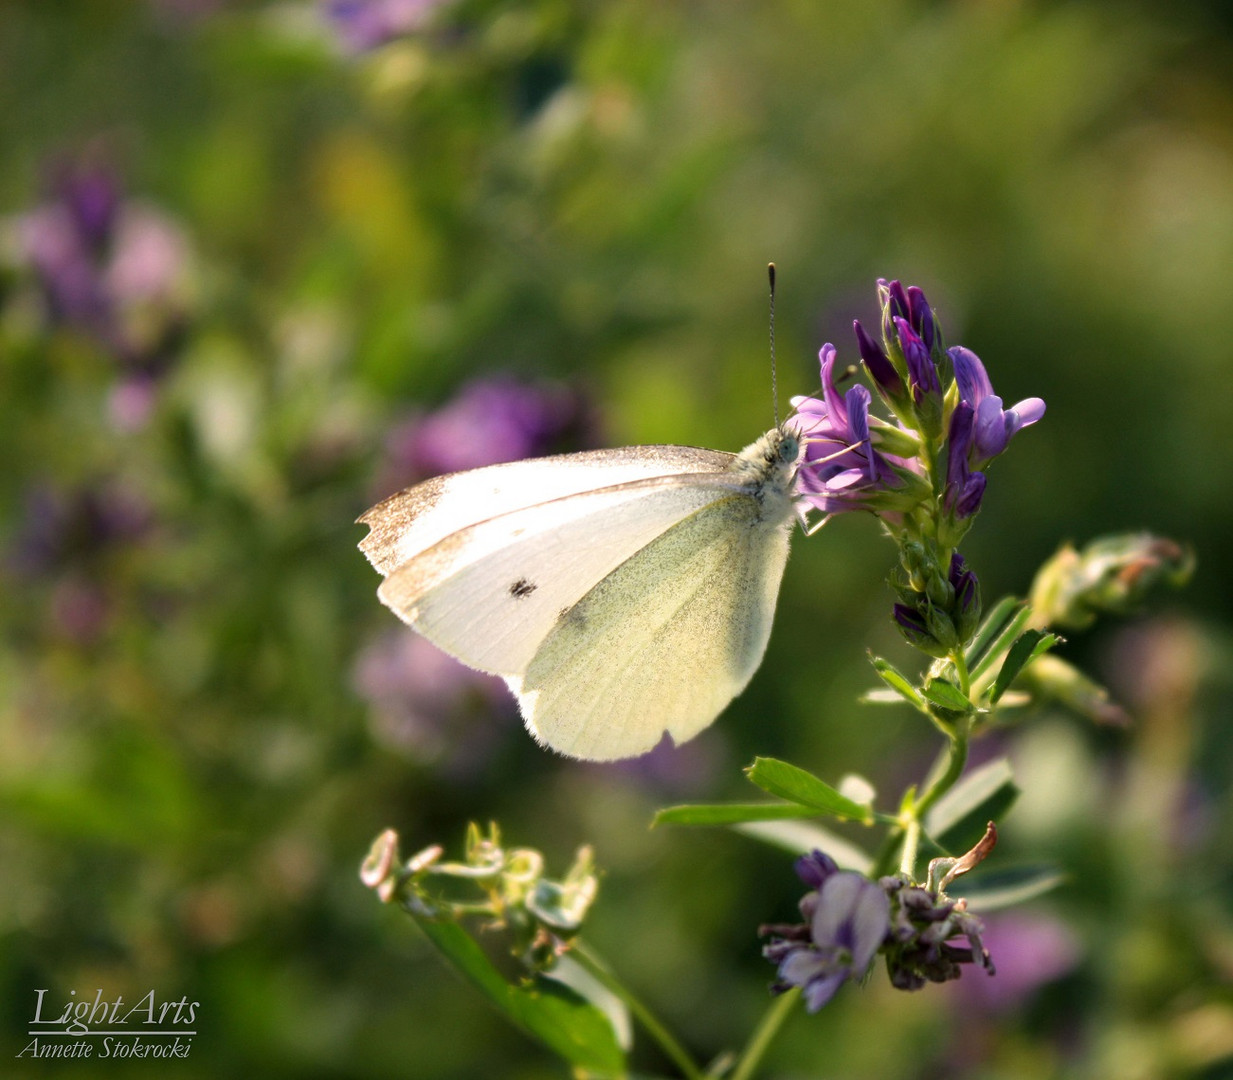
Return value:
<svg viewBox="0 0 1233 1080">
<path fill-rule="evenodd" d="M 1231 33 L 1096 0 L 7 0 L 0 1075 L 563 1075 L 356 877 L 387 826 L 456 851 L 490 819 L 551 870 L 594 843 L 588 938 L 703 1059 L 743 1039 L 790 862 L 646 824 L 748 798 L 755 753 L 920 777 L 924 725 L 856 703 L 867 647 L 911 662 L 875 523 L 798 539 L 750 690 L 615 767 L 407 645 L 351 523 L 499 443 L 480 399 L 424 449 L 476 378 L 549 401 L 557 449 L 751 441 L 771 259 L 784 397 L 824 340 L 856 360 L 885 276 L 1048 402 L 965 542 L 986 600 L 1123 529 L 1198 571 L 1064 650 L 1131 730 L 1001 736 L 997 858 L 1070 880 L 990 917 L 996 989 L 875 972 L 767 1075 L 1233 1075 Z M 186 995 L 200 1033 L 18 1060 L 37 988 Z"/>
</svg>

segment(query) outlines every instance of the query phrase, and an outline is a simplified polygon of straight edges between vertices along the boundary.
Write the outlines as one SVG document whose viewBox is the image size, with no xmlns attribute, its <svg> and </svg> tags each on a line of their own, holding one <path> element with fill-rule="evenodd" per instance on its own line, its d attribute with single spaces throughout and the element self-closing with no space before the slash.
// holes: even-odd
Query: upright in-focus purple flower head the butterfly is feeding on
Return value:
<svg viewBox="0 0 1233 1080">
<path fill-rule="evenodd" d="M 1044 415 L 1044 402 L 1004 408 L 975 353 L 946 346 L 916 286 L 879 280 L 878 296 L 882 340 L 859 321 L 852 327 L 869 383 L 893 419 L 870 413 L 873 395 L 862 385 L 840 393 L 837 354 L 824 345 L 821 398 L 793 398 L 805 448 L 797 489 L 824 514 L 869 510 L 882 519 L 900 546 L 895 624 L 917 648 L 944 657 L 980 619 L 975 575 L 956 549 L 980 509 L 983 470 Z"/>
</svg>

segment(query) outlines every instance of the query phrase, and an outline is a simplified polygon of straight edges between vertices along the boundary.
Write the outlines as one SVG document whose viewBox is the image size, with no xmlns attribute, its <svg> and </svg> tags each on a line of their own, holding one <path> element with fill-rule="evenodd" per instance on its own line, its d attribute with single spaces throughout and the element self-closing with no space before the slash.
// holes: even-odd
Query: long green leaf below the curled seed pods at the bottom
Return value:
<svg viewBox="0 0 1233 1080">
<path fill-rule="evenodd" d="M 613 1026 L 594 1005 L 562 983 L 544 976 L 526 985 L 510 985 L 456 922 L 411 914 L 445 959 L 515 1027 L 578 1069 L 602 1075 L 625 1073 L 625 1054 Z"/>
</svg>

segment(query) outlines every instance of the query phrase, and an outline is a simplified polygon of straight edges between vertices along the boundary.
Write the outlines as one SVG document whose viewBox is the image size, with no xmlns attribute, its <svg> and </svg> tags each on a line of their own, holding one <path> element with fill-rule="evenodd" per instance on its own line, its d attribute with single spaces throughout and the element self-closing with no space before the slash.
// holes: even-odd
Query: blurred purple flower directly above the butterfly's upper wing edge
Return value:
<svg viewBox="0 0 1233 1080">
<path fill-rule="evenodd" d="M 391 432 L 379 487 L 395 491 L 444 472 L 577 449 L 594 441 L 594 428 L 591 408 L 566 386 L 476 378 Z"/>
</svg>

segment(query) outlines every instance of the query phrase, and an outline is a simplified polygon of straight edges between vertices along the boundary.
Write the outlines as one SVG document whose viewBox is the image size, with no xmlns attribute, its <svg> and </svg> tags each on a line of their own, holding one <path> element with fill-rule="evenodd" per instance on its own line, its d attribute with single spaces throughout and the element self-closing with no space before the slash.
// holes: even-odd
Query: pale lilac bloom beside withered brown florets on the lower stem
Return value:
<svg viewBox="0 0 1233 1080">
<path fill-rule="evenodd" d="M 817 1012 L 847 979 L 864 975 L 890 928 L 890 901 L 882 888 L 834 865 L 820 852 L 799 859 L 801 879 L 819 883 L 800 901 L 808 923 L 763 928 L 783 933 L 762 951 L 779 968 L 771 989 L 779 994 L 799 986 L 809 1012 Z"/>
</svg>

